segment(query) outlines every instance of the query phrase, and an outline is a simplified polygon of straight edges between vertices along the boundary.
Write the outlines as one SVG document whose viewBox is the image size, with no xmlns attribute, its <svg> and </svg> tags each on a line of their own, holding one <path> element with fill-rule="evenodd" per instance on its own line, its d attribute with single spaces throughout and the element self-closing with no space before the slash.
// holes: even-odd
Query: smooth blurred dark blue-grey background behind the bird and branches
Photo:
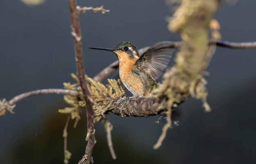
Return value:
<svg viewBox="0 0 256 164">
<path fill-rule="evenodd" d="M 78 0 L 83 7 L 104 5 L 110 13 L 80 13 L 85 70 L 89 77 L 117 59 L 111 52 L 87 47 L 114 48 L 123 41 L 138 48 L 162 40 L 180 41 L 170 33 L 166 17 L 170 7 L 164 0 Z M 256 1 L 224 3 L 216 13 L 222 39 L 256 41 Z M 29 7 L 19 0 L 0 1 L 0 99 L 45 88 L 63 88 L 76 72 L 74 45 L 67 0 L 47 0 Z M 111 164 L 254 164 L 256 163 L 256 49 L 218 47 L 207 68 L 208 103 L 190 98 L 178 107 L 179 126 L 168 130 L 162 147 L 153 150 L 165 120 L 108 116 L 114 128 L 112 140 L 117 160 L 112 160 L 101 122 L 95 124 L 97 144 L 94 163 Z M 114 78 L 117 71 L 109 78 Z M 103 81 L 106 83 L 106 81 Z M 63 95 L 41 95 L 16 104 L 15 114 L 0 117 L 1 164 L 63 163 L 63 128 L 68 106 Z M 85 111 L 76 129 L 68 127 L 70 164 L 84 154 Z"/>
</svg>

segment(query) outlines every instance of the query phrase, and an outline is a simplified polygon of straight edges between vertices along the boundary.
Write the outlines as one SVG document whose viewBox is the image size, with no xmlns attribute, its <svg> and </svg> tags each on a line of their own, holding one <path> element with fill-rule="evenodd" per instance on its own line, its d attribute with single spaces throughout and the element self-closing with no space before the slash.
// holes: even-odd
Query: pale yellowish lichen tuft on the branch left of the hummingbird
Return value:
<svg viewBox="0 0 256 164">
<path fill-rule="evenodd" d="M 76 75 L 72 74 L 73 79 L 76 80 L 76 83 L 63 83 L 64 88 L 68 90 L 79 91 L 79 96 L 74 95 L 65 95 L 64 100 L 72 105 L 72 107 L 65 107 L 65 109 L 59 109 L 58 111 L 63 114 L 71 114 L 72 119 L 78 121 L 79 116 L 79 107 L 85 107 L 85 101 L 83 100 L 83 94 L 81 88 L 79 87 L 79 80 Z M 90 91 L 90 97 L 88 99 L 93 105 L 95 112 L 94 122 L 101 120 L 104 117 L 104 113 L 109 110 L 112 110 L 114 106 L 114 101 L 120 97 L 125 96 L 125 87 L 121 83 L 120 79 L 117 81 L 115 79 L 108 79 L 108 84 L 105 86 L 100 82 L 94 81 L 92 78 L 87 77 L 88 89 Z"/>
</svg>

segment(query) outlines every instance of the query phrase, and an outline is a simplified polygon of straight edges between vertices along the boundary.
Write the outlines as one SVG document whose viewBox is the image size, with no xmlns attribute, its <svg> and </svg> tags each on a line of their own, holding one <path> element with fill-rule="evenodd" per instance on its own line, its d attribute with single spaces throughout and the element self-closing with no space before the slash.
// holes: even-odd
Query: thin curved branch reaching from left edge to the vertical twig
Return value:
<svg viewBox="0 0 256 164">
<path fill-rule="evenodd" d="M 26 93 L 19 94 L 15 97 L 13 97 L 10 101 L 6 101 L 4 105 L 0 106 L 0 114 L 7 109 L 8 107 L 15 105 L 18 101 L 21 101 L 24 98 L 30 97 L 30 96 L 36 96 L 40 94 L 71 94 L 71 95 L 78 95 L 78 91 L 74 90 L 65 90 L 65 89 L 43 89 L 43 90 L 34 90 Z M 11 111 L 10 111 L 11 112 Z"/>
</svg>

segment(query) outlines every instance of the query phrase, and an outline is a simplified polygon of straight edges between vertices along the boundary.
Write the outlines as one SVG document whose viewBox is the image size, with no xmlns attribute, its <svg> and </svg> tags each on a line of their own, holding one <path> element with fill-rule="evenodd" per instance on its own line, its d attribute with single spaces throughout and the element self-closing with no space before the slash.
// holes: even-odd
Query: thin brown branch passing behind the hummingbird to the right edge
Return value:
<svg viewBox="0 0 256 164">
<path fill-rule="evenodd" d="M 169 46 L 169 48 L 179 48 L 181 46 L 182 42 L 172 42 Z M 216 45 L 224 48 L 234 48 L 234 49 L 246 49 L 246 48 L 256 48 L 256 42 L 227 42 L 227 41 L 209 41 L 209 45 Z M 148 47 L 145 47 L 146 49 Z M 141 55 L 143 53 L 143 50 L 145 48 L 139 49 L 139 54 Z M 109 66 L 104 68 L 101 72 L 99 72 L 96 76 L 94 76 L 95 81 L 101 82 L 103 79 L 108 77 L 112 72 L 114 72 L 119 67 L 118 60 L 111 63 Z"/>
</svg>

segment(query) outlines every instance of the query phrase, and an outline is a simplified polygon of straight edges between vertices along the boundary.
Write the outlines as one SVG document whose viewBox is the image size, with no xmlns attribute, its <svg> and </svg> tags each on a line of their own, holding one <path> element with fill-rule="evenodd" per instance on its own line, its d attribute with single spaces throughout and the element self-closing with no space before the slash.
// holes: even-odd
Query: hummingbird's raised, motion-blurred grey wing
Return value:
<svg viewBox="0 0 256 164">
<path fill-rule="evenodd" d="M 135 63 L 135 69 L 147 72 L 156 81 L 168 66 L 174 49 L 170 41 L 158 42 L 148 48 Z"/>
</svg>

